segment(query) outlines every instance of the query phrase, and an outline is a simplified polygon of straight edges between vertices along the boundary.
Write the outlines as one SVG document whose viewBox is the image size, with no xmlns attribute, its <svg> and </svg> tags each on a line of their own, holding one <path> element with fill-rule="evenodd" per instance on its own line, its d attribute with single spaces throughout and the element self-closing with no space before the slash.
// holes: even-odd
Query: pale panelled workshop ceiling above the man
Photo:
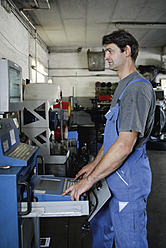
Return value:
<svg viewBox="0 0 166 248">
<path fill-rule="evenodd" d="M 141 47 L 166 46 L 166 0 L 13 0 L 48 49 L 101 47 L 124 28 Z"/>
</svg>

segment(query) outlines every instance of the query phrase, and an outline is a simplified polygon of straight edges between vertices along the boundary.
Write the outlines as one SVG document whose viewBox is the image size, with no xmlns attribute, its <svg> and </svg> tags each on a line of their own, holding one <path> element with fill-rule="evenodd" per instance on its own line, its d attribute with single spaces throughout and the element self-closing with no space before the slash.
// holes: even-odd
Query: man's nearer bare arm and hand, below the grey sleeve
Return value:
<svg viewBox="0 0 166 248">
<path fill-rule="evenodd" d="M 109 148 L 92 172 L 87 177 L 69 187 L 63 195 L 71 191 L 71 199 L 78 201 L 80 195 L 88 191 L 95 182 L 117 170 L 132 152 L 137 136 L 138 133 L 135 131 L 120 132 L 117 141 Z"/>
</svg>

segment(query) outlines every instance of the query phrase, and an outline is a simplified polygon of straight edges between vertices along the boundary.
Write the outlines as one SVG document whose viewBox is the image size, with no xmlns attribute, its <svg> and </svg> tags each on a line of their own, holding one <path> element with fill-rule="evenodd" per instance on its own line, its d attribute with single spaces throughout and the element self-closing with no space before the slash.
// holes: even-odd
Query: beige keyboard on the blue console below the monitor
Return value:
<svg viewBox="0 0 166 248">
<path fill-rule="evenodd" d="M 28 161 L 28 159 L 34 154 L 36 149 L 37 147 L 35 146 L 31 146 L 25 143 L 19 143 L 13 151 L 7 154 L 7 156 Z"/>
</svg>

